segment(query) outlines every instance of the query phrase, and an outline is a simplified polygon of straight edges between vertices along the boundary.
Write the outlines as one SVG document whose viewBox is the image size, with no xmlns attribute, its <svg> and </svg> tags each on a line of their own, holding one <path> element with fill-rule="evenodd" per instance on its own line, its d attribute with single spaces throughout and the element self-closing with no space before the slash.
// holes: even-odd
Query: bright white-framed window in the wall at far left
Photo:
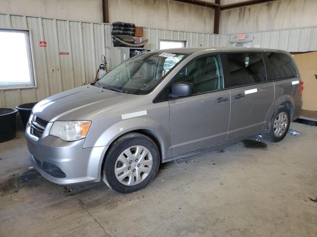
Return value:
<svg viewBox="0 0 317 237">
<path fill-rule="evenodd" d="M 30 32 L 0 29 L 0 90 L 34 86 Z"/>
</svg>

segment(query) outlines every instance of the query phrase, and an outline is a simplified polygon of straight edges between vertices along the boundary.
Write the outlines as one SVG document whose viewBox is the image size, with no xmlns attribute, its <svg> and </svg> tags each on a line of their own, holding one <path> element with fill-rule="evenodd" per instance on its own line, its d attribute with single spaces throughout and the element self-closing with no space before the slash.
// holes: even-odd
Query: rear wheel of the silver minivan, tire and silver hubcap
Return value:
<svg viewBox="0 0 317 237">
<path fill-rule="evenodd" d="M 284 120 L 279 120 L 279 118 L 282 118 Z M 285 118 L 287 119 L 287 122 L 285 121 Z M 279 125 L 279 122 L 281 122 L 283 124 Z M 290 123 L 291 123 L 290 110 L 286 106 L 280 105 L 275 110 L 275 112 L 270 120 L 267 132 L 265 134 L 263 134 L 264 138 L 266 138 L 272 142 L 279 142 L 279 141 L 283 140 L 283 138 L 287 134 Z M 280 130 L 278 130 L 279 127 L 280 127 Z"/>
</svg>

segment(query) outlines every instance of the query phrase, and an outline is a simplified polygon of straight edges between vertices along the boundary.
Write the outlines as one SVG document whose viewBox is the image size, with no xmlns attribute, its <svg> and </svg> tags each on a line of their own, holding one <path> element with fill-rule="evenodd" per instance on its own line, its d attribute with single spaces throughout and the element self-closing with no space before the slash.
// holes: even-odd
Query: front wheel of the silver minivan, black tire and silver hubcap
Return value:
<svg viewBox="0 0 317 237">
<path fill-rule="evenodd" d="M 158 147 L 149 137 L 128 133 L 111 145 L 103 164 L 103 179 L 119 193 L 133 193 L 153 181 L 159 163 Z"/>
</svg>

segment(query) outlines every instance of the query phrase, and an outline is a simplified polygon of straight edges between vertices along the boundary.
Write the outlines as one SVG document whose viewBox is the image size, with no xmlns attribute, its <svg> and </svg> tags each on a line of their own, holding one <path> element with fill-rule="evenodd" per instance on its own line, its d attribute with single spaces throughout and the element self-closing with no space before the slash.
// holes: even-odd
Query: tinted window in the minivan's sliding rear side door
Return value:
<svg viewBox="0 0 317 237">
<path fill-rule="evenodd" d="M 229 87 L 265 81 L 261 53 L 227 53 L 227 58 L 230 70 Z"/>
</svg>

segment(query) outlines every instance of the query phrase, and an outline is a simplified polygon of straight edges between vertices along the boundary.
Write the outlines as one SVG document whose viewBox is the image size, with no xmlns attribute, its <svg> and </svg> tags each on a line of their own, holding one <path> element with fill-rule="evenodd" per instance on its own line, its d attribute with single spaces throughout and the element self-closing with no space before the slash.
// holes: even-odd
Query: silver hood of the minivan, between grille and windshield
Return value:
<svg viewBox="0 0 317 237">
<path fill-rule="evenodd" d="M 76 120 L 99 109 L 124 104 L 137 95 L 84 85 L 48 97 L 35 105 L 33 113 L 47 121 Z"/>
</svg>

